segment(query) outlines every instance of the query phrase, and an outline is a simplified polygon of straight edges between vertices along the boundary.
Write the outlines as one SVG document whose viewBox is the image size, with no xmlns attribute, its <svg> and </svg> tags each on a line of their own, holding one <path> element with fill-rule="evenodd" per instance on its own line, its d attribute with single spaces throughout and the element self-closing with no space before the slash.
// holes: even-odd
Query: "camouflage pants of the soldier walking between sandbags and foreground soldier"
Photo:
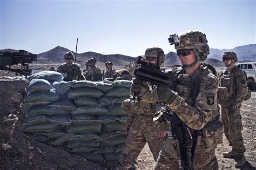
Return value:
<svg viewBox="0 0 256 170">
<path fill-rule="evenodd" d="M 146 142 L 156 161 L 165 140 L 158 137 L 157 132 L 152 116 L 136 116 L 127 135 L 125 147 L 118 159 L 119 164 L 124 167 L 130 167 L 132 162 L 139 156 Z"/>
</svg>

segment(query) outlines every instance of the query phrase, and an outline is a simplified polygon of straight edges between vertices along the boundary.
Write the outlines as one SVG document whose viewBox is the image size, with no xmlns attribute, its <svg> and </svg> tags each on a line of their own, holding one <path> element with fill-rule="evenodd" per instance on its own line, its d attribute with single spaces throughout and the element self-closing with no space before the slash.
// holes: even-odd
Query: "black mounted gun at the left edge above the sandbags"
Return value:
<svg viewBox="0 0 256 170">
<path fill-rule="evenodd" d="M 0 53 L 0 70 L 16 72 L 16 76 L 19 74 L 19 76 L 24 75 L 27 77 L 31 75 L 32 69 L 29 69 L 29 65 L 26 63 L 33 63 L 36 60 L 37 55 L 25 50 L 19 50 L 18 52 L 4 51 Z M 12 65 L 19 63 L 21 64 L 21 69 L 11 69 Z"/>
</svg>

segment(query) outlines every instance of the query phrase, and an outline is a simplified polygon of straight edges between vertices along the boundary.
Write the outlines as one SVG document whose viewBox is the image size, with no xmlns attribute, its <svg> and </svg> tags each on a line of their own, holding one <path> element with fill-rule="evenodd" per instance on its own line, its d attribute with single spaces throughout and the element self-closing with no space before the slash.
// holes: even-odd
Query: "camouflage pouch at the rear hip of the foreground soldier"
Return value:
<svg viewBox="0 0 256 170">
<path fill-rule="evenodd" d="M 206 147 L 215 146 L 222 144 L 224 127 L 221 121 L 212 121 L 207 123 L 201 130 L 202 140 Z"/>
</svg>

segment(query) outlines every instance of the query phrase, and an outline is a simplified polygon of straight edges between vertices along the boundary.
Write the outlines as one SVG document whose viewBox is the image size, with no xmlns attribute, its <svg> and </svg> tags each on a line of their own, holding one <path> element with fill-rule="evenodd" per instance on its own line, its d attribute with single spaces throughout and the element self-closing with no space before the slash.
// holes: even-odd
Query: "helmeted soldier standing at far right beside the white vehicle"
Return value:
<svg viewBox="0 0 256 170">
<path fill-rule="evenodd" d="M 223 53 L 223 62 L 227 69 L 221 73 L 219 87 L 219 104 L 224 124 L 224 134 L 232 146 L 231 152 L 223 153 L 224 158 L 235 158 L 235 166 L 246 162 L 245 145 L 242 139 L 242 121 L 240 108 L 247 94 L 246 73 L 235 66 L 237 55 L 232 51 Z"/>
</svg>

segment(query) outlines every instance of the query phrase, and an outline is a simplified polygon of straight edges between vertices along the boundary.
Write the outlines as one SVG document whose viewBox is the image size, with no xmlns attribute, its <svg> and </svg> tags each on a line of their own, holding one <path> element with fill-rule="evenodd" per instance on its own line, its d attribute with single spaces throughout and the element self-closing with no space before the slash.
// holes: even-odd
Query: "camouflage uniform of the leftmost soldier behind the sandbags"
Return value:
<svg viewBox="0 0 256 170">
<path fill-rule="evenodd" d="M 66 73 L 66 77 L 63 79 L 64 81 L 85 80 L 81 66 L 77 63 L 72 65 L 68 65 L 66 63 L 59 64 L 56 71 Z"/>
</svg>

